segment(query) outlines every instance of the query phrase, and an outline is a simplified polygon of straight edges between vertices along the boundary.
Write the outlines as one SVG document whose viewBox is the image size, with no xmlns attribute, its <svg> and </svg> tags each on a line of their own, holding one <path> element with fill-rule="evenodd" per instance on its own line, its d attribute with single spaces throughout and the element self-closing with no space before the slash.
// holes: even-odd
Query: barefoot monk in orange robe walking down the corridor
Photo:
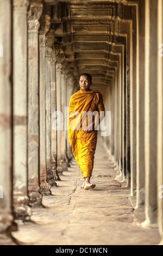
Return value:
<svg viewBox="0 0 163 256">
<path fill-rule="evenodd" d="M 68 138 L 72 153 L 83 173 L 85 190 L 95 188 L 91 184 L 94 155 L 97 144 L 98 125 L 104 118 L 104 105 L 101 93 L 91 90 L 92 77 L 82 74 L 79 80 L 80 90 L 70 99 L 68 115 Z"/>
</svg>

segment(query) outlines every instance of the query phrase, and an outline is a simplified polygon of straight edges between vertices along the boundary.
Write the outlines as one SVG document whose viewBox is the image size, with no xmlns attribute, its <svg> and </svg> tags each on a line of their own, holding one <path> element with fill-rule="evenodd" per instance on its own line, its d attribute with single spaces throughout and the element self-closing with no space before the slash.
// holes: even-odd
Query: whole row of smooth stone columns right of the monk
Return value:
<svg viewBox="0 0 163 256">
<path fill-rule="evenodd" d="M 106 110 L 113 115 L 111 136 L 104 142 L 120 170 L 117 179 L 127 181 L 131 196 L 136 196 L 136 208 L 145 204 L 146 220 L 142 225 L 158 224 L 162 244 L 163 2 L 145 0 L 130 4 L 132 20 L 126 21 L 128 29 L 120 29 L 121 34 L 127 35 L 120 53 L 123 65 L 120 64 L 121 71 L 116 71 L 114 65 L 114 79 L 104 98 Z"/>
</svg>

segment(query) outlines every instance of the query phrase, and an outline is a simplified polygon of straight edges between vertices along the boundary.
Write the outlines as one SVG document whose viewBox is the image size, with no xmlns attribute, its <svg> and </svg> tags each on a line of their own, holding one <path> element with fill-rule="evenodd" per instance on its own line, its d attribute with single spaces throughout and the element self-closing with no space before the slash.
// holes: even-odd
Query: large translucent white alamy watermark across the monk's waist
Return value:
<svg viewBox="0 0 163 256">
<path fill-rule="evenodd" d="M 70 123 L 68 124 L 68 114 Z M 104 118 L 105 115 L 105 118 Z M 64 114 L 61 111 L 55 111 L 52 114 L 54 121 L 52 123 L 53 130 L 85 130 L 86 127 L 91 130 L 100 130 L 101 136 L 110 136 L 111 133 L 111 111 L 83 111 L 80 114 L 78 111 L 68 113 L 68 107 L 65 107 Z M 65 119 L 65 122 L 64 122 Z M 92 122 L 94 120 L 94 124 Z M 65 123 L 65 125 L 64 125 Z M 99 124 L 100 123 L 100 124 Z"/>
</svg>

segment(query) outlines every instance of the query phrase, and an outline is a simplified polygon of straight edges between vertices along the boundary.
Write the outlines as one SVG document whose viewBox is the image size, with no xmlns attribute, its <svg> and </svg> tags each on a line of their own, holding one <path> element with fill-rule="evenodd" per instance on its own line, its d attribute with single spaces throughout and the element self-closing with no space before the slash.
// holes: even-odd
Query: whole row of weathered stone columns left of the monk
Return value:
<svg viewBox="0 0 163 256">
<path fill-rule="evenodd" d="M 73 83 L 67 87 L 70 75 L 55 42 L 50 8 L 42 1 L 2 0 L 0 10 L 3 232 L 13 219 L 30 220 L 31 206 L 42 203 L 42 194 L 51 194 L 69 165 L 67 130 L 54 129 L 57 116 L 52 117 L 56 111 L 64 113 Z"/>
</svg>

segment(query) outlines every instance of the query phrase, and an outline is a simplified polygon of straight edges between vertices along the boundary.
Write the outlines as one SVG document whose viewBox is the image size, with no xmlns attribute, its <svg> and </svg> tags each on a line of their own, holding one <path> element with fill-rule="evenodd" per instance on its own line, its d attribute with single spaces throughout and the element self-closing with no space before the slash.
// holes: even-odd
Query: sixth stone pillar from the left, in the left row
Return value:
<svg viewBox="0 0 163 256">
<path fill-rule="evenodd" d="M 56 94 L 57 94 L 57 111 L 61 113 L 61 63 L 57 62 L 56 65 Z M 59 116 L 58 116 L 59 118 Z M 60 120 L 59 120 L 60 121 Z M 62 121 L 61 121 L 62 123 Z M 63 127 L 63 126 L 62 126 Z M 61 127 L 61 129 L 62 129 Z M 62 173 L 64 169 L 62 168 L 61 159 L 61 129 L 57 130 L 57 171 Z"/>
</svg>

